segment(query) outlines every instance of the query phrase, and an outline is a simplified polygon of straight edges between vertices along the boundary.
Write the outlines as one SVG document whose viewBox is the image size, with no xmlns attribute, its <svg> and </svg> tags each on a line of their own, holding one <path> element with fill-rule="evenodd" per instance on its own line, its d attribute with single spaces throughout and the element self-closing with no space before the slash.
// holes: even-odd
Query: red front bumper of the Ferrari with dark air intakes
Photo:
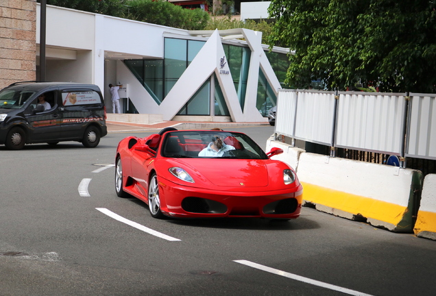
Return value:
<svg viewBox="0 0 436 296">
<path fill-rule="evenodd" d="M 302 185 L 285 190 L 247 188 L 195 188 L 159 179 L 160 210 L 169 217 L 264 217 L 295 219 L 300 216 Z"/>
</svg>

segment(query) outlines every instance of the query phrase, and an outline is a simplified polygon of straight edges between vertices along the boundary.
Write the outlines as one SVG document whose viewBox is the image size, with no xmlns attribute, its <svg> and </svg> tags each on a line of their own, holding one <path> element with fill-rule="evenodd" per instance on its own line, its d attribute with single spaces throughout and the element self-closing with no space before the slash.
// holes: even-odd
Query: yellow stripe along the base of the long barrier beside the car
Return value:
<svg viewBox="0 0 436 296">
<path fill-rule="evenodd" d="M 313 204 L 321 204 L 393 225 L 398 225 L 402 221 L 404 214 L 408 212 L 407 206 L 399 206 L 386 201 L 378 201 L 370 197 L 353 195 L 305 182 L 301 183 L 304 188 L 304 200 Z"/>
</svg>

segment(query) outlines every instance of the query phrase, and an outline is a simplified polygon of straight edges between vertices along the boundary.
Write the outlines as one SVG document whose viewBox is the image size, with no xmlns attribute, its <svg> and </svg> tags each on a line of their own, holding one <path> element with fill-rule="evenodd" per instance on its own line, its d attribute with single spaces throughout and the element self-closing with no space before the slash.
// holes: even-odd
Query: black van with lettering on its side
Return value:
<svg viewBox="0 0 436 296">
<path fill-rule="evenodd" d="M 8 149 L 69 140 L 92 148 L 106 134 L 106 107 L 96 85 L 16 82 L 0 91 L 0 144 Z"/>
</svg>

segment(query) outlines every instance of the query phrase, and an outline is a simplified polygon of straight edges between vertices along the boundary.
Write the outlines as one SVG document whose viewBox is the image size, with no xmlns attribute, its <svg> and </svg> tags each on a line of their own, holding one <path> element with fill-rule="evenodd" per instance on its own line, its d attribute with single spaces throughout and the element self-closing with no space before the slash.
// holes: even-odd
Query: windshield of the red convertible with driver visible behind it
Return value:
<svg viewBox="0 0 436 296">
<path fill-rule="evenodd" d="M 165 134 L 161 153 L 169 158 L 268 159 L 249 136 L 221 131 L 169 132 Z"/>
</svg>

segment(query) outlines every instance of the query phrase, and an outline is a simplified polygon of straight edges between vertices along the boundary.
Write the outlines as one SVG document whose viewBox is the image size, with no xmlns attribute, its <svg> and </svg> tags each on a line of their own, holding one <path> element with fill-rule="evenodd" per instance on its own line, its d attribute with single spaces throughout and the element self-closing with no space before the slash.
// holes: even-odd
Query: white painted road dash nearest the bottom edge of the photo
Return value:
<svg viewBox="0 0 436 296">
<path fill-rule="evenodd" d="M 330 290 L 339 291 L 341 293 L 346 293 L 346 294 L 349 294 L 349 295 L 356 295 L 356 296 L 357 295 L 359 295 L 359 296 L 372 296 L 370 294 L 361 293 L 359 291 L 350 290 L 348 288 L 342 288 L 340 286 L 335 286 L 335 285 L 332 285 L 332 284 L 327 284 L 325 282 L 319 282 L 317 280 L 312 280 L 312 279 L 310 279 L 308 277 L 302 277 L 300 275 L 295 275 L 293 273 L 287 273 L 286 271 L 281 271 L 279 269 L 274 269 L 274 268 L 267 267 L 267 266 L 261 265 L 261 264 L 257 264 L 257 263 L 251 262 L 251 261 L 247 261 L 247 260 L 233 260 L 233 261 L 237 262 L 237 263 L 240 263 L 240 264 L 247 265 L 249 267 L 253 267 L 255 269 L 260 269 L 262 271 L 267 271 L 269 273 L 274 273 L 276 275 L 281 275 L 283 277 L 288 277 L 288 278 L 290 278 L 292 280 L 298 280 L 300 282 L 305 282 L 307 284 L 312 284 L 314 286 L 320 286 L 322 288 L 328 288 Z"/>
</svg>

